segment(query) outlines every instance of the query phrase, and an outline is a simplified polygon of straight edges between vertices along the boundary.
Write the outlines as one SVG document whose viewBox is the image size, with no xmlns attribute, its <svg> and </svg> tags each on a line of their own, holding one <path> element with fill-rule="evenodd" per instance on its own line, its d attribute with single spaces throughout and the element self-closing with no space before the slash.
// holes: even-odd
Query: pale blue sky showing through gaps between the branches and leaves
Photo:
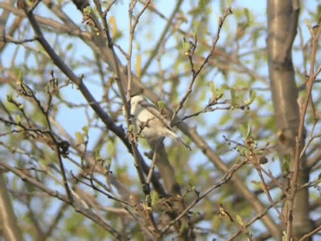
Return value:
<svg viewBox="0 0 321 241">
<path fill-rule="evenodd" d="M 188 8 L 189 3 L 191 3 L 191 2 L 193 3 L 193 1 L 186 1 L 183 5 L 183 9 Z M 254 16 L 255 16 L 255 18 L 257 18 L 256 19 L 257 21 L 260 21 L 260 22 L 266 21 L 266 13 L 265 13 L 266 1 L 262 1 L 262 0 L 241 1 L 240 0 L 240 1 L 231 1 L 231 2 L 232 2 L 232 4 L 231 4 L 232 9 L 234 8 L 234 6 L 238 6 L 241 8 L 248 8 L 251 12 L 254 13 Z M 160 12 L 162 12 L 163 14 L 165 14 L 167 17 L 169 17 L 171 15 L 172 10 L 174 8 L 174 4 L 175 4 L 175 1 L 156 1 L 156 3 L 155 3 L 155 5 L 157 6 L 157 9 Z M 215 34 L 216 29 L 217 29 L 216 14 L 220 13 L 220 9 L 219 9 L 218 4 L 219 4 L 219 1 L 212 1 L 211 18 L 212 18 L 213 25 L 210 27 L 210 31 L 213 31 L 213 35 Z M 309 9 L 313 9 L 314 8 L 313 6 L 315 6 L 317 4 L 317 1 L 310 0 L 310 1 L 305 2 L 305 4 L 309 5 Z M 41 15 L 46 16 L 47 11 L 45 10 L 45 8 L 42 8 L 42 7 L 40 7 L 40 8 L 41 8 L 41 13 L 40 13 L 40 11 L 38 11 L 38 12 Z M 65 11 L 75 21 L 75 23 L 77 23 L 77 24 L 81 23 L 82 16 L 75 9 L 74 6 L 67 5 L 65 7 Z M 110 16 L 111 15 L 115 16 L 115 18 L 116 18 L 117 28 L 119 30 L 123 31 L 123 33 L 124 33 L 123 38 L 118 42 L 118 44 L 120 46 L 122 46 L 123 49 L 126 51 L 128 49 L 128 1 L 122 1 L 122 3 L 117 4 L 112 9 Z M 143 17 L 140 21 L 141 24 L 143 24 L 144 21 L 147 21 Z M 236 22 L 233 20 L 233 18 L 229 19 L 228 23 L 229 23 L 229 28 L 236 29 Z M 158 39 L 157 36 L 159 36 L 161 34 L 165 24 L 166 24 L 165 21 L 163 21 L 161 19 L 155 21 L 154 26 L 152 28 L 152 31 L 153 31 L 152 34 L 154 36 L 156 36 L 156 37 L 154 37 L 154 41 L 156 41 Z M 138 28 L 143 28 L 143 25 L 142 26 L 138 25 Z M 307 29 L 305 27 L 302 27 L 302 29 L 303 29 L 303 31 L 307 31 Z M 148 29 L 148 30 L 146 29 L 146 31 L 149 31 L 149 30 L 150 29 Z M 29 37 L 32 37 L 32 36 L 29 36 Z M 223 33 L 223 38 L 224 38 L 224 33 Z M 139 40 L 139 37 L 137 37 L 137 39 Z M 146 50 L 146 49 L 150 49 L 153 46 L 152 41 L 150 41 L 150 42 L 143 41 L 141 38 L 140 38 L 140 41 L 141 41 L 141 43 L 140 43 L 141 51 Z M 65 42 L 64 45 L 67 46 L 70 42 L 74 42 L 74 40 L 69 40 L 69 41 Z M 219 41 L 219 45 L 222 45 L 222 44 L 223 44 L 223 42 Z M 261 44 L 264 45 L 264 42 Z M 1 56 L 2 63 L 6 67 L 10 66 L 10 62 L 8 60 L 10 60 L 11 56 L 14 54 L 14 47 L 15 46 L 13 46 L 13 45 L 9 45 L 6 49 L 6 51 Z M 64 48 L 64 46 L 62 46 L 62 48 Z M 137 50 L 135 49 L 135 45 L 134 45 L 133 55 L 135 55 L 136 53 L 137 53 Z M 21 48 L 20 51 L 18 51 L 17 62 L 24 61 L 23 56 L 24 56 L 24 51 Z M 121 55 L 119 55 L 119 56 L 121 56 Z M 76 46 L 76 52 L 74 53 L 74 58 L 83 58 L 83 57 L 92 57 L 92 53 L 88 47 L 86 47 L 84 44 L 81 44 L 79 41 L 79 43 Z M 294 55 L 293 59 L 294 59 L 294 62 L 300 63 L 301 56 Z M 123 58 L 122 58 L 122 61 L 123 61 L 123 63 L 125 63 Z M 164 67 L 166 67 L 165 62 L 164 62 L 164 65 L 165 65 Z M 142 60 L 142 63 L 144 64 L 144 59 Z M 35 65 L 35 62 L 32 58 L 29 59 L 28 65 L 30 65 L 30 66 Z M 151 68 L 156 68 L 156 66 L 155 65 L 151 66 Z M 88 71 L 88 69 L 83 68 L 83 67 L 75 70 L 76 74 L 78 74 L 78 75 L 81 75 L 82 73 L 86 73 L 87 71 Z M 266 73 L 267 73 L 267 69 L 266 69 Z M 96 99 L 100 100 L 103 92 L 100 89 L 100 87 L 97 86 L 97 84 L 96 84 L 98 82 L 97 76 L 87 76 L 85 74 L 85 81 L 86 81 L 86 84 L 89 87 L 89 89 L 93 93 L 95 93 Z M 85 102 L 84 98 L 81 96 L 81 94 L 79 93 L 79 91 L 75 87 L 74 88 L 71 88 L 71 87 L 66 88 L 63 91 L 63 94 L 65 96 L 68 96 L 68 98 L 70 96 L 72 96 L 72 101 L 75 103 L 84 103 Z M 4 99 L 4 98 L 5 98 L 5 96 L 2 96 L 2 99 Z M 74 136 L 75 132 L 81 131 L 81 128 L 87 124 L 87 120 L 83 116 L 84 116 L 84 114 L 82 112 L 82 109 L 75 109 L 72 111 L 67 110 L 67 109 L 61 109 L 60 113 L 58 115 L 57 121 L 59 121 L 60 123 L 64 123 L 64 127 L 66 128 L 66 130 L 68 130 L 69 134 Z M 216 122 L 217 120 L 215 118 L 211 117 L 210 121 Z M 97 133 L 98 133 L 97 130 L 90 131 L 90 134 L 89 134 L 90 135 L 90 143 L 89 143 L 90 145 L 95 143 L 94 140 L 95 140 L 95 136 L 97 136 Z M 124 155 L 123 160 L 127 161 L 128 159 L 130 159 L 130 160 L 132 159 L 129 154 L 127 154 L 125 151 L 122 150 L 122 145 L 119 145 L 119 152 L 123 153 L 123 155 Z M 201 160 L 202 162 L 207 162 L 207 158 L 204 157 L 202 154 L 199 154 L 198 159 Z M 122 165 L 121 162 L 118 164 Z M 71 166 L 70 166 L 70 168 L 71 168 Z M 271 168 L 273 168 L 273 167 L 271 167 Z M 133 172 L 132 175 L 135 175 L 135 173 Z M 256 178 L 255 175 L 253 176 L 253 178 Z"/>
</svg>

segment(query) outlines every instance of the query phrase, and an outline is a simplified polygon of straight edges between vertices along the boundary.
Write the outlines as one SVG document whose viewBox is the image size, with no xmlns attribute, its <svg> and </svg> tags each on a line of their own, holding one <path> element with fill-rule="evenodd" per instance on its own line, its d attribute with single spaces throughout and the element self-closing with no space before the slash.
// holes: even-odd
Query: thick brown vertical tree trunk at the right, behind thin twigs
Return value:
<svg viewBox="0 0 321 241">
<path fill-rule="evenodd" d="M 297 6 L 294 6 L 295 4 Z M 297 32 L 298 13 L 298 1 L 297 3 L 291 0 L 268 1 L 268 66 L 276 127 L 279 134 L 278 153 L 281 162 L 284 161 L 282 160 L 284 156 L 289 154 L 291 163 L 294 162 L 295 137 L 300 121 L 297 104 L 298 90 L 291 55 L 292 43 Z M 304 137 L 299 142 L 302 148 Z M 290 167 L 293 166 L 291 163 Z M 303 156 L 300 159 L 297 185 L 308 182 L 308 179 L 309 170 L 306 168 L 306 158 Z M 296 193 L 294 199 L 293 234 L 300 237 L 311 228 L 308 188 L 304 188 Z"/>
</svg>

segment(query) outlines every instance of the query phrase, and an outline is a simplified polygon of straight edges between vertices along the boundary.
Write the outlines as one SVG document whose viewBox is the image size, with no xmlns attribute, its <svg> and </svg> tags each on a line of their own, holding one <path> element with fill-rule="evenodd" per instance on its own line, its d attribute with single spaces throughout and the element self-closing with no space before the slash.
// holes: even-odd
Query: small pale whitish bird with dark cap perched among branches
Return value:
<svg viewBox="0 0 321 241">
<path fill-rule="evenodd" d="M 123 113 L 124 107 L 123 107 Z M 136 94 L 130 100 L 130 115 L 133 117 L 134 128 L 138 134 L 147 140 L 157 140 L 163 137 L 172 137 L 186 148 L 191 149 L 173 131 L 171 123 L 156 107 L 149 103 L 141 94 Z"/>
</svg>

